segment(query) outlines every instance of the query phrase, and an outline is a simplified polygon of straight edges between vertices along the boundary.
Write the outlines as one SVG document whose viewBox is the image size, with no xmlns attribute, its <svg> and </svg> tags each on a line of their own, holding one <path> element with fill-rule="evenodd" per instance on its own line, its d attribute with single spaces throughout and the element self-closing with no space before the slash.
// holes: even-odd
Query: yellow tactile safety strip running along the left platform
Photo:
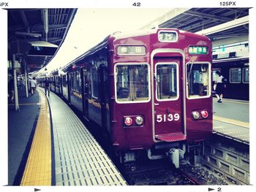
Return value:
<svg viewBox="0 0 256 192">
<path fill-rule="evenodd" d="M 51 139 L 48 101 L 42 91 L 37 127 L 20 185 L 51 185 Z"/>
</svg>

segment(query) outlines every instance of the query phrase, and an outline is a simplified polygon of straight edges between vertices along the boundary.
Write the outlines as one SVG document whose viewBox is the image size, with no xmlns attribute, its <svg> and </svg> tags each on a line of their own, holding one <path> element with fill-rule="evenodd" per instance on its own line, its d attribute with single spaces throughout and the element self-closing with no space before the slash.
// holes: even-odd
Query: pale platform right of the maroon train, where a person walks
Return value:
<svg viewBox="0 0 256 192">
<path fill-rule="evenodd" d="M 213 99 L 214 134 L 249 145 L 249 101 Z"/>
</svg>

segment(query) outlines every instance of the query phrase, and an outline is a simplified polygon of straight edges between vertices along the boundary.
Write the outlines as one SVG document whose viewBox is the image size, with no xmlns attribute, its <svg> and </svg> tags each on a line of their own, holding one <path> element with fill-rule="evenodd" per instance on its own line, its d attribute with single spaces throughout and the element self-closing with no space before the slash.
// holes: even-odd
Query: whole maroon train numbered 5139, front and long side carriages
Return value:
<svg viewBox="0 0 256 192">
<path fill-rule="evenodd" d="M 211 135 L 211 52 L 208 37 L 178 29 L 113 34 L 51 88 L 108 133 L 121 161 L 146 151 L 175 163 Z"/>
</svg>

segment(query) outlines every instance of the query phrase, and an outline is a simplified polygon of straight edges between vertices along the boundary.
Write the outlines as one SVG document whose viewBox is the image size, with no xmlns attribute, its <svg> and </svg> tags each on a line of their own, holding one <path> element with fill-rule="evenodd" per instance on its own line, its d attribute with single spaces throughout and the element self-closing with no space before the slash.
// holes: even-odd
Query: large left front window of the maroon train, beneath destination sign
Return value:
<svg viewBox="0 0 256 192">
<path fill-rule="evenodd" d="M 116 66 L 117 101 L 148 101 L 148 66 Z"/>
</svg>

